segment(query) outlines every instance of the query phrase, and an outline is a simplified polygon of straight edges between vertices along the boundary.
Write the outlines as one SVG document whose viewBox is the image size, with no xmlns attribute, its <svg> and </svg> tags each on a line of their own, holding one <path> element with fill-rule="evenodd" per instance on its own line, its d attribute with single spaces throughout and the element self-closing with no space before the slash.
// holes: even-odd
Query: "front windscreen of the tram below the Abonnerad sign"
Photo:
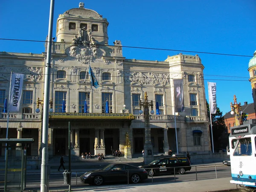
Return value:
<svg viewBox="0 0 256 192">
<path fill-rule="evenodd" d="M 252 155 L 252 142 L 251 138 L 243 138 L 238 141 L 234 156 L 239 155 Z"/>
</svg>

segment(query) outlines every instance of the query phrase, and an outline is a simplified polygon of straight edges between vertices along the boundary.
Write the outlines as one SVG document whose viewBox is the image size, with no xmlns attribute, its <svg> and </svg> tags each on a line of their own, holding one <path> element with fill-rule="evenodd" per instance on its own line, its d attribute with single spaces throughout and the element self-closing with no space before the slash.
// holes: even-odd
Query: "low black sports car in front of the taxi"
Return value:
<svg viewBox="0 0 256 192">
<path fill-rule="evenodd" d="M 130 182 L 139 183 L 140 180 L 148 178 L 148 173 L 145 169 L 126 163 L 113 163 L 103 169 L 84 173 L 80 176 L 80 180 L 82 183 L 101 185 L 107 182 L 127 181 L 128 177 Z"/>
</svg>

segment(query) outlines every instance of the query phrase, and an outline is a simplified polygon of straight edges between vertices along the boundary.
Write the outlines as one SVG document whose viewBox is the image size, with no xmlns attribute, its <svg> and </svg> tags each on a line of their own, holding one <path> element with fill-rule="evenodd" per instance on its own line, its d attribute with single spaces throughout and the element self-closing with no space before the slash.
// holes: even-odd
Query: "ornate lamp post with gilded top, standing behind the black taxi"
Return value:
<svg viewBox="0 0 256 192">
<path fill-rule="evenodd" d="M 139 102 L 140 105 L 140 111 L 139 113 L 144 113 L 144 119 L 145 119 L 145 145 L 144 145 L 144 163 L 150 163 L 153 160 L 153 146 L 151 143 L 151 134 L 150 134 L 150 124 L 149 124 L 149 107 L 151 107 L 151 114 L 154 114 L 153 111 L 153 101 L 148 102 L 148 96 L 147 92 L 144 94 L 144 102 Z M 144 111 L 141 110 L 143 107 Z"/>
</svg>

